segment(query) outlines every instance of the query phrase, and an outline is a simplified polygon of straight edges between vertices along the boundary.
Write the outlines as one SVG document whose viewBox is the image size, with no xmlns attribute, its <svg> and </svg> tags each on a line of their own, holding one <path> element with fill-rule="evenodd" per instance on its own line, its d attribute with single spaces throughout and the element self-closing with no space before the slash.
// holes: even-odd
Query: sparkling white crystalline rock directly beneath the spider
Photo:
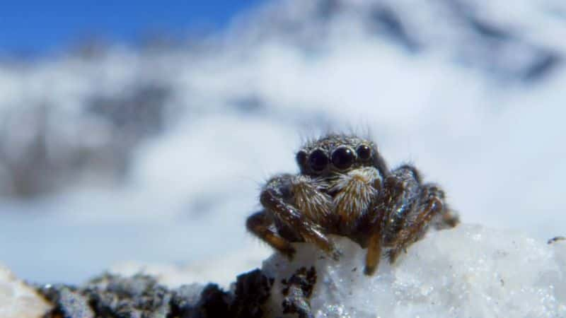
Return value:
<svg viewBox="0 0 566 318">
<path fill-rule="evenodd" d="M 280 254 L 264 262 L 275 278 L 270 316 L 282 315 L 282 280 L 315 266 L 315 317 L 566 317 L 566 241 L 548 245 L 517 232 L 459 225 L 430 232 L 393 266 L 382 259 L 368 277 L 366 250 L 333 238 L 344 252 L 340 261 L 301 243 L 292 263 Z"/>
</svg>

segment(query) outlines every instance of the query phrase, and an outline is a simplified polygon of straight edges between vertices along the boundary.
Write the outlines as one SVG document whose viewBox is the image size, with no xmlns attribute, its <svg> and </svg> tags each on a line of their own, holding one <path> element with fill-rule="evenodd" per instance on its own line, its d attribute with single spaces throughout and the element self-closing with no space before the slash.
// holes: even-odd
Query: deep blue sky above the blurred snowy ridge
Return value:
<svg viewBox="0 0 566 318">
<path fill-rule="evenodd" d="M 52 52 L 84 36 L 129 42 L 144 31 L 181 35 L 222 28 L 238 12 L 266 0 L 2 0 L 0 52 Z"/>
</svg>

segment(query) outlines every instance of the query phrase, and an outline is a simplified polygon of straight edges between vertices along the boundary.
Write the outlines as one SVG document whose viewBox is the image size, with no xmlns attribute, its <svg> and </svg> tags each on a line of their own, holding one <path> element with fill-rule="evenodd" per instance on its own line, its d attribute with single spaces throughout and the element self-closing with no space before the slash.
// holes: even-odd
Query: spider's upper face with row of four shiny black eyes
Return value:
<svg viewBox="0 0 566 318">
<path fill-rule="evenodd" d="M 328 177 L 373 165 L 376 146 L 357 136 L 328 135 L 308 141 L 296 153 L 303 175 Z"/>
</svg>

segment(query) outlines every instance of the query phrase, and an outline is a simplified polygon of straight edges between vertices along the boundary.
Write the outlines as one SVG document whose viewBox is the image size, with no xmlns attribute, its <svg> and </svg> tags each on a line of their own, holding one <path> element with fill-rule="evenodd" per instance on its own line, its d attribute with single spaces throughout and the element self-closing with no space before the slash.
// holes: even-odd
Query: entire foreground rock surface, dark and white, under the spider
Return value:
<svg viewBox="0 0 566 318">
<path fill-rule="evenodd" d="M 368 277 L 366 251 L 334 239 L 344 253 L 340 261 L 300 243 L 293 262 L 274 254 L 226 289 L 214 283 L 170 288 L 156 278 L 168 281 L 177 271 L 104 274 L 79 288 L 38 288 L 52 309 L 3 270 L 0 316 L 566 317 L 566 240 L 460 225 L 429 233 L 393 266 L 382 261 Z"/>
</svg>

